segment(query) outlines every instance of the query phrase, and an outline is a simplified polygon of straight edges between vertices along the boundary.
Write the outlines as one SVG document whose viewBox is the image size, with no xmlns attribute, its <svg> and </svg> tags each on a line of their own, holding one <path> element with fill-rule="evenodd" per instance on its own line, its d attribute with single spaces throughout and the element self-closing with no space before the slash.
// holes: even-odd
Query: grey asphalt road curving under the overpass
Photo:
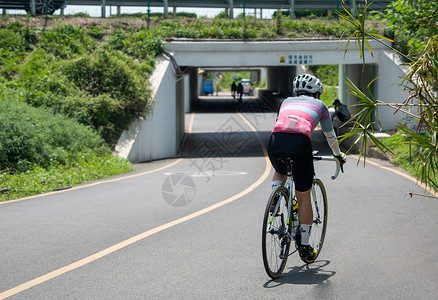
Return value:
<svg viewBox="0 0 438 300">
<path fill-rule="evenodd" d="M 238 108 L 239 112 L 236 112 Z M 202 99 L 181 157 L 0 204 L 0 299 L 436 299 L 438 200 L 405 172 L 348 157 L 316 163 L 329 197 L 318 260 L 261 257 L 273 110 Z M 316 131 L 314 147 L 328 154 Z"/>
</svg>

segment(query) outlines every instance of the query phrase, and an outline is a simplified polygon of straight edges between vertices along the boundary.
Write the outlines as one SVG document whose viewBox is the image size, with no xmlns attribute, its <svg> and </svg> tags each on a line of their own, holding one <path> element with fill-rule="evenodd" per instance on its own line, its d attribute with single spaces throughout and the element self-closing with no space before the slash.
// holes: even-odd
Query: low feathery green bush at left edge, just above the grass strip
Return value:
<svg viewBox="0 0 438 300">
<path fill-rule="evenodd" d="M 1 171 L 46 168 L 65 163 L 80 152 L 109 152 L 103 139 L 90 128 L 17 100 L 1 99 L 0 128 Z"/>
</svg>

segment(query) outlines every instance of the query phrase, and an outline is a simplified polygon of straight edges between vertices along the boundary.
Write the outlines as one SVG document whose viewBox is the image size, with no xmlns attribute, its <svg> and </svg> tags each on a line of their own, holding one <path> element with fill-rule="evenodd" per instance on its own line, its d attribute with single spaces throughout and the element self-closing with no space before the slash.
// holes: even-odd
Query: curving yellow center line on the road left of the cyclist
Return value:
<svg viewBox="0 0 438 300">
<path fill-rule="evenodd" d="M 248 124 L 250 126 L 251 130 L 254 131 L 257 134 L 257 130 L 248 122 L 248 120 L 246 120 L 246 118 L 243 115 L 241 115 L 240 113 L 239 113 L 239 115 L 246 122 L 246 124 Z M 193 118 L 193 115 L 192 115 L 192 118 Z M 9 289 L 7 291 L 4 291 L 4 292 L 0 293 L 0 299 L 5 299 L 7 297 L 13 296 L 13 295 L 18 294 L 20 292 L 23 292 L 23 291 L 25 291 L 27 289 L 30 289 L 30 288 L 32 288 L 32 287 L 34 287 L 36 285 L 39 285 L 39 284 L 41 284 L 43 282 L 46 282 L 46 281 L 51 280 L 51 279 L 53 279 L 55 277 L 58 277 L 58 276 L 60 276 L 62 274 L 65 274 L 65 273 L 67 273 L 69 271 L 72 271 L 72 270 L 75 270 L 77 268 L 80 268 L 80 267 L 82 267 L 82 266 L 84 266 L 86 264 L 89 264 L 89 263 L 91 263 L 91 262 L 93 262 L 93 261 L 95 261 L 95 260 L 97 260 L 99 258 L 107 256 L 107 255 L 109 255 L 111 253 L 114 253 L 114 252 L 116 252 L 116 251 L 118 251 L 118 250 L 120 250 L 122 248 L 125 248 L 125 247 L 127 247 L 127 246 L 129 246 L 129 245 L 131 245 L 131 244 L 133 244 L 135 242 L 138 242 L 138 241 L 140 241 L 142 239 L 145 239 L 145 238 L 147 238 L 147 237 L 149 237 L 149 236 L 151 236 L 153 234 L 156 234 L 158 232 L 161 232 L 163 230 L 166 230 L 168 228 L 171 228 L 173 226 L 176 226 L 176 225 L 181 224 L 183 222 L 186 222 L 188 220 L 194 219 L 194 218 L 199 217 L 199 216 L 201 216 L 203 214 L 206 214 L 206 213 L 208 213 L 208 212 L 210 212 L 210 211 L 212 211 L 212 210 L 214 210 L 216 208 L 219 208 L 219 207 L 222 207 L 222 206 L 224 206 L 226 204 L 229 204 L 229 203 L 231 203 L 231 202 L 233 202 L 233 201 L 243 197 L 244 195 L 252 192 L 254 189 L 256 189 L 260 184 L 262 184 L 266 180 L 266 178 L 269 176 L 269 174 L 271 172 L 271 163 L 269 161 L 269 158 L 267 157 L 266 147 L 265 147 L 265 145 L 263 144 L 262 140 L 260 139 L 260 137 L 258 135 L 257 135 L 257 138 L 258 138 L 258 140 L 260 142 L 260 146 L 262 147 L 262 150 L 263 150 L 263 153 L 264 153 L 265 171 L 259 177 L 259 179 L 257 179 L 257 181 L 255 181 L 253 184 L 251 184 L 245 190 L 243 190 L 240 193 L 238 193 L 238 194 L 236 194 L 234 196 L 231 196 L 228 199 L 225 199 L 225 200 L 223 200 L 223 201 L 221 201 L 219 203 L 213 204 L 213 205 L 211 205 L 211 206 L 209 206 L 207 208 L 201 209 L 201 210 L 199 210 L 197 212 L 194 212 L 192 214 L 189 214 L 189 215 L 187 215 L 185 217 L 179 218 L 177 220 L 168 222 L 168 223 L 163 224 L 161 226 L 158 226 L 158 227 L 155 227 L 155 228 L 150 229 L 148 231 L 145 231 L 143 233 L 140 233 L 140 234 L 138 234 L 136 236 L 133 236 L 133 237 L 131 237 L 131 238 L 129 238 L 129 239 L 123 241 L 123 242 L 120 242 L 120 243 L 115 244 L 115 245 L 113 245 L 111 247 L 108 247 L 108 248 L 106 248 L 106 249 L 104 249 L 102 251 L 99 251 L 99 252 L 97 252 L 95 254 L 92 254 L 92 255 L 90 255 L 88 257 L 85 257 L 85 258 L 83 258 L 81 260 L 78 260 L 78 261 L 76 261 L 76 262 L 74 262 L 74 263 L 72 263 L 70 265 L 67 265 L 65 267 L 59 268 L 59 269 L 54 270 L 54 271 L 52 271 L 50 273 L 47 273 L 47 274 L 42 275 L 40 277 L 37 277 L 37 278 L 35 278 L 33 280 L 30 280 L 30 281 L 25 282 L 25 283 L 23 283 L 21 285 L 18 285 L 18 286 L 14 287 L 14 288 L 11 288 L 11 289 Z M 161 168 L 161 169 L 164 169 L 164 167 Z M 149 172 L 151 172 L 151 171 L 149 171 Z M 145 173 L 148 173 L 148 172 L 145 172 Z M 140 176 L 140 174 L 138 174 L 136 176 Z"/>
</svg>

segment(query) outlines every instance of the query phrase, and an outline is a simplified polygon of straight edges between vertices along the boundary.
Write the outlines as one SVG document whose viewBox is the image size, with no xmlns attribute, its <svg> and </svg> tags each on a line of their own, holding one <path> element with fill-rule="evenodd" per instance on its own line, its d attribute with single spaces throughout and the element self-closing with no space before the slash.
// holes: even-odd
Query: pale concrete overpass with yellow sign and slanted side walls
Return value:
<svg viewBox="0 0 438 300">
<path fill-rule="evenodd" d="M 357 101 L 348 93 L 345 80 L 349 78 L 363 91 L 375 77 L 371 86 L 376 99 L 388 103 L 401 103 L 408 95 L 401 83 L 404 74 L 399 58 L 387 47 L 371 41 L 374 56 L 365 53 L 365 67 L 358 45 L 350 43 L 345 54 L 345 42 L 338 40 L 301 41 L 224 41 L 180 40 L 168 41 L 167 50 L 172 59 L 163 57 L 152 76 L 156 103 L 154 113 L 146 120 L 134 122 L 126 130 L 116 151 L 133 162 L 172 157 L 184 135 L 184 115 L 190 104 L 198 98 L 198 70 L 237 68 L 264 68 L 267 88 L 264 99 L 270 94 L 281 97 L 291 95 L 293 78 L 302 65 L 338 65 L 339 98 L 353 110 Z M 273 100 L 272 100 L 273 101 Z M 390 108 L 379 107 L 378 117 L 383 130 L 395 128 L 402 114 L 393 114 Z M 174 116 L 169 118 L 169 116 Z"/>
</svg>

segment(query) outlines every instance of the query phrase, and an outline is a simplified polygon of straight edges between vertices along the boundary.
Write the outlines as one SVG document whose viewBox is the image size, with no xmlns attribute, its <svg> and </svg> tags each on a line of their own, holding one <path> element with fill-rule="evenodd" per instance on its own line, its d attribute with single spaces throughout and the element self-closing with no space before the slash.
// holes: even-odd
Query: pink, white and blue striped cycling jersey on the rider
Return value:
<svg viewBox="0 0 438 300">
<path fill-rule="evenodd" d="M 310 138 L 320 122 L 323 132 L 333 130 L 330 113 L 324 102 L 306 95 L 289 97 L 281 104 L 272 133 L 302 133 Z"/>
</svg>

